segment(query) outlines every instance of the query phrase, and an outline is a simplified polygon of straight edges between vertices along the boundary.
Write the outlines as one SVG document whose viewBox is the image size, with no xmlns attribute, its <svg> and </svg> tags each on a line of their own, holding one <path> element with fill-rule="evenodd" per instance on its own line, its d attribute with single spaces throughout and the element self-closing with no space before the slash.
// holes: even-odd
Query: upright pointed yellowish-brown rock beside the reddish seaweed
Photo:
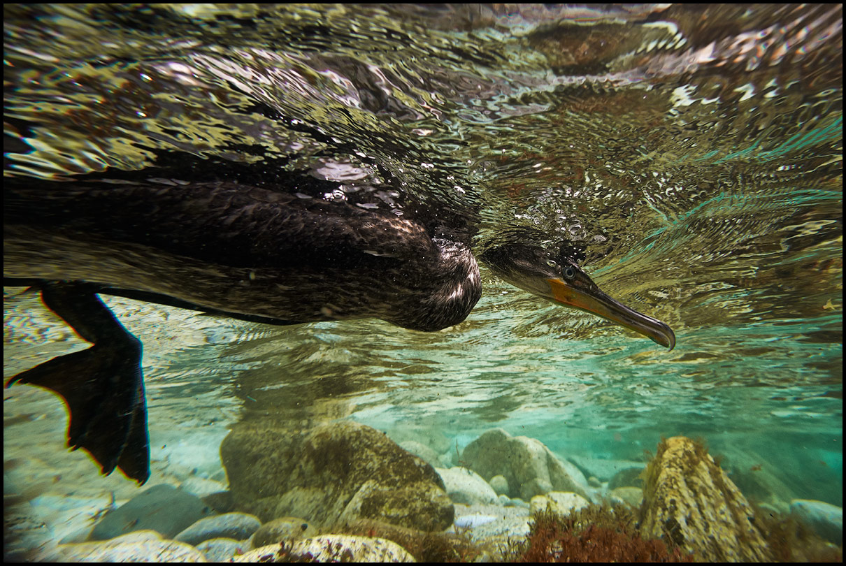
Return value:
<svg viewBox="0 0 846 566">
<path fill-rule="evenodd" d="M 749 503 L 706 449 L 685 437 L 658 445 L 647 466 L 640 531 L 670 537 L 708 562 L 771 559 Z"/>
</svg>

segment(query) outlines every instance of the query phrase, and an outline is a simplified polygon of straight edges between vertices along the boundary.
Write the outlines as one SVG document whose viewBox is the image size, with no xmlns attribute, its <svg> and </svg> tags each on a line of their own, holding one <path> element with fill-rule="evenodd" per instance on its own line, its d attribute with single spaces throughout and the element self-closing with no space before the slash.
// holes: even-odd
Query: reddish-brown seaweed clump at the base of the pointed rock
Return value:
<svg viewBox="0 0 846 566">
<path fill-rule="evenodd" d="M 693 562 L 671 543 L 640 536 L 634 512 L 624 505 L 589 505 L 569 515 L 536 513 L 514 562 Z"/>
</svg>

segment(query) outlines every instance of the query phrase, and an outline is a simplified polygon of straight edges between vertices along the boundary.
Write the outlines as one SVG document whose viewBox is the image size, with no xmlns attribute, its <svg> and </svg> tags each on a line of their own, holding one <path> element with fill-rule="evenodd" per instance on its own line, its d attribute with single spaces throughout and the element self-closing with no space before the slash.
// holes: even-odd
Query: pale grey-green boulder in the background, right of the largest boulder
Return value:
<svg viewBox="0 0 846 566">
<path fill-rule="evenodd" d="M 574 464 L 564 462 L 541 441 L 512 437 L 501 428 L 486 431 L 464 448 L 462 464 L 487 481 L 503 475 L 511 497 L 530 501 L 548 492 L 574 492 L 590 499 L 585 475 Z"/>
</svg>

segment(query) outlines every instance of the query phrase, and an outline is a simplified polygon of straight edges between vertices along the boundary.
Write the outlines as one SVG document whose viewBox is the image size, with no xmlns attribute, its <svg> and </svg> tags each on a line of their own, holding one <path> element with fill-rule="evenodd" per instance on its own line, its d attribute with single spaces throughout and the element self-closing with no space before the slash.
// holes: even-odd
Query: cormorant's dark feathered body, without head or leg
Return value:
<svg viewBox="0 0 846 566">
<path fill-rule="evenodd" d="M 305 195 L 304 195 L 305 196 Z M 481 295 L 464 243 L 346 201 L 230 182 L 7 188 L 4 276 L 249 320 L 376 317 L 439 330 Z"/>
</svg>

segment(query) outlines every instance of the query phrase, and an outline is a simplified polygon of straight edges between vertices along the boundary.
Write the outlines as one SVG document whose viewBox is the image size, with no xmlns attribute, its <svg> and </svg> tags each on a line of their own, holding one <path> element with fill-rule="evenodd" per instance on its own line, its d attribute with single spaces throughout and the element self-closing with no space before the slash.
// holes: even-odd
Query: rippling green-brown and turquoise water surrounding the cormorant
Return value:
<svg viewBox="0 0 846 566">
<path fill-rule="evenodd" d="M 213 475 L 244 417 L 351 417 L 447 448 L 499 426 L 585 459 L 701 437 L 762 500 L 842 505 L 841 5 L 224 6 L 4 5 L 4 175 L 308 172 L 477 242 L 535 226 L 678 345 L 484 267 L 475 310 L 435 333 L 107 299 L 145 344 L 154 481 Z M 22 290 L 7 377 L 82 347 Z M 4 394 L 8 478 L 135 489 L 65 452 L 49 394 Z"/>
</svg>

